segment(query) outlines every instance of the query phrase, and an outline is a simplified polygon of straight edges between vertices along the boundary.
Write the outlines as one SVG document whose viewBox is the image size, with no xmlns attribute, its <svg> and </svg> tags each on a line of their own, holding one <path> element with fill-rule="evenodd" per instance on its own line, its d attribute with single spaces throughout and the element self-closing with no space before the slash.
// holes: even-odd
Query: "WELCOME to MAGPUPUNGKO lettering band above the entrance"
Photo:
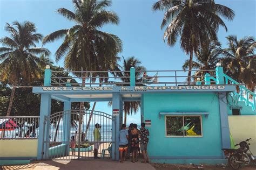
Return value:
<svg viewBox="0 0 256 170">
<path fill-rule="evenodd" d="M 42 87 L 43 91 L 156 91 L 156 90 L 223 90 L 225 86 L 134 86 L 134 87 Z"/>
</svg>

